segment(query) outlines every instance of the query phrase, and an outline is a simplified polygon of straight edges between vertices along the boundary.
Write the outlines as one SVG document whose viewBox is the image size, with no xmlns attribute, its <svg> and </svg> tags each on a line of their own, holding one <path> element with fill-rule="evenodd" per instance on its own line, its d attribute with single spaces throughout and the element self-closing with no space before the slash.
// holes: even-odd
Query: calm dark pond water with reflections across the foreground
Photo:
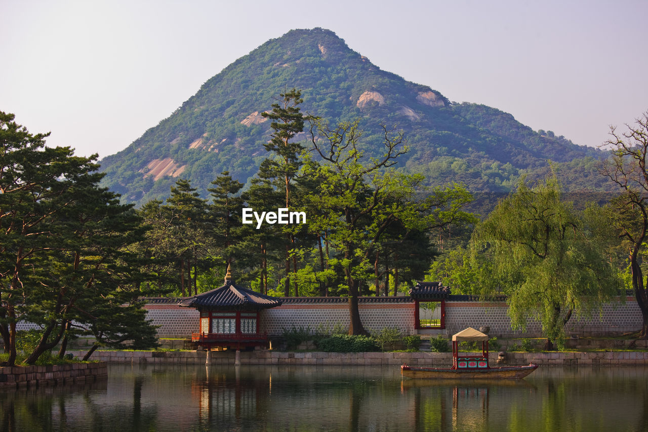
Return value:
<svg viewBox="0 0 648 432">
<path fill-rule="evenodd" d="M 0 430 L 648 430 L 643 367 L 540 367 L 506 383 L 402 381 L 398 367 L 111 365 L 108 374 L 0 390 Z"/>
</svg>

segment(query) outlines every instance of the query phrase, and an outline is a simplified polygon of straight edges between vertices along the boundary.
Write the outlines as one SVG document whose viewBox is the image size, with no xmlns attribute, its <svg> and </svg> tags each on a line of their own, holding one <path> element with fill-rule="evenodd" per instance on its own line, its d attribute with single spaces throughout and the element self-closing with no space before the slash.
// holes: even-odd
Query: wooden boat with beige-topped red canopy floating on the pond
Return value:
<svg viewBox="0 0 648 432">
<path fill-rule="evenodd" d="M 459 342 L 481 342 L 481 355 L 459 353 Z M 474 328 L 467 328 L 452 336 L 452 368 L 400 366 L 400 374 L 406 378 L 428 379 L 519 379 L 538 368 L 526 366 L 490 366 L 488 361 L 488 335 Z"/>
</svg>

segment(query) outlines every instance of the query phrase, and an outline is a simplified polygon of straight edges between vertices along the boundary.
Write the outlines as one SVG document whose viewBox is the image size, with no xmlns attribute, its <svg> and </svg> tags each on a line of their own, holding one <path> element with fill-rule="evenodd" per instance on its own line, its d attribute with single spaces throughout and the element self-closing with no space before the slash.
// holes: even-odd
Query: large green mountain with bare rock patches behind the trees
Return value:
<svg viewBox="0 0 648 432">
<path fill-rule="evenodd" d="M 178 178 L 205 196 L 222 171 L 246 182 L 267 157 L 270 121 L 260 113 L 293 87 L 302 91 L 303 112 L 331 124 L 360 119 L 368 154 L 380 151 L 380 125 L 404 130 L 410 152 L 399 169 L 424 173 L 432 185 L 461 181 L 472 191 L 505 192 L 520 174 L 546 170 L 548 160 L 582 173 L 603 155 L 382 71 L 334 32 L 291 30 L 227 66 L 128 148 L 104 158 L 103 185 L 143 204 L 167 197 Z"/>
</svg>

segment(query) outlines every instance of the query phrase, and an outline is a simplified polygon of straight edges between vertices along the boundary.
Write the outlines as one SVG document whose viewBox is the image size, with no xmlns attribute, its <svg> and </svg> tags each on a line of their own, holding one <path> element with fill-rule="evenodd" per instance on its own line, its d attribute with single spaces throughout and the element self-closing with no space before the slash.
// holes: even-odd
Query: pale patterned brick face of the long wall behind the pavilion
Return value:
<svg viewBox="0 0 648 432">
<path fill-rule="evenodd" d="M 198 311 L 190 307 L 177 306 L 178 299 L 156 299 L 145 305 L 147 317 L 155 326 L 159 326 L 160 337 L 187 337 L 198 331 Z M 409 299 L 399 302 L 380 302 L 374 298 L 371 302 L 360 302 L 360 319 L 365 329 L 371 333 L 382 328 L 398 328 L 403 334 L 414 334 L 414 307 Z M 642 322 L 642 314 L 633 297 L 625 302 L 605 304 L 602 313 L 595 310 L 588 317 L 575 315 L 567 326 L 568 333 L 580 336 L 605 336 L 629 331 L 636 331 Z M 272 309 L 264 309 L 260 315 L 260 331 L 268 335 L 281 335 L 283 329 L 293 326 L 316 330 L 331 330 L 334 326 L 349 326 L 349 308 L 340 299 L 312 302 L 290 299 L 290 302 Z M 505 302 L 474 302 L 446 300 L 445 333 L 453 335 L 467 327 L 479 329 L 489 326 L 490 334 L 497 337 L 540 337 L 540 323 L 529 317 L 526 330 L 511 329 L 511 319 L 507 314 Z M 33 324 L 19 322 L 17 330 L 36 328 Z"/>
</svg>

